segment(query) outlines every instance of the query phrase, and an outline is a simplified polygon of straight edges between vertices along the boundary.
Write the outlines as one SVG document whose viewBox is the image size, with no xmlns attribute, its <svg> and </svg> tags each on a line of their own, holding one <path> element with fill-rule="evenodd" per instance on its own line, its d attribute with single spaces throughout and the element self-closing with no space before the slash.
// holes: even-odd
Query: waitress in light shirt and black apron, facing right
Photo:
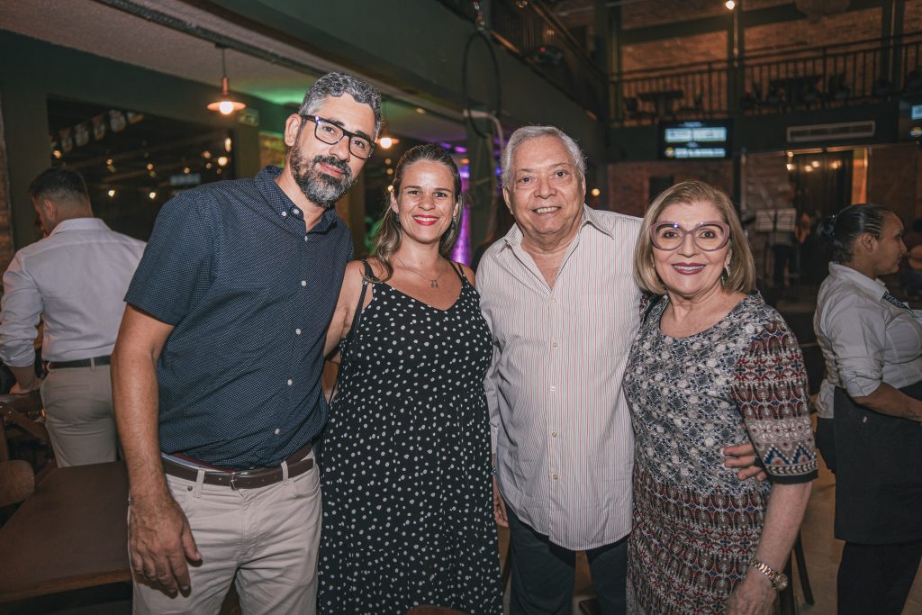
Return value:
<svg viewBox="0 0 922 615">
<path fill-rule="evenodd" d="M 813 326 L 826 363 L 817 440 L 845 540 L 840 615 L 899 615 L 922 559 L 922 314 L 879 279 L 899 270 L 902 235 L 876 205 L 845 207 L 818 230 L 833 249 Z"/>
</svg>

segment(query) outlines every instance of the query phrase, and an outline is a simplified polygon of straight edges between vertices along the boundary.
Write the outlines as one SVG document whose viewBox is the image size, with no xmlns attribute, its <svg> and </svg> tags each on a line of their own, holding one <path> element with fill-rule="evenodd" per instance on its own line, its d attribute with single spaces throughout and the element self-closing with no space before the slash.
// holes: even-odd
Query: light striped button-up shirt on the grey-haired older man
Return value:
<svg viewBox="0 0 922 615">
<path fill-rule="evenodd" d="M 640 325 L 640 225 L 584 206 L 553 288 L 516 226 L 478 268 L 500 490 L 517 517 L 570 550 L 631 531 L 633 433 L 621 380 Z"/>
</svg>

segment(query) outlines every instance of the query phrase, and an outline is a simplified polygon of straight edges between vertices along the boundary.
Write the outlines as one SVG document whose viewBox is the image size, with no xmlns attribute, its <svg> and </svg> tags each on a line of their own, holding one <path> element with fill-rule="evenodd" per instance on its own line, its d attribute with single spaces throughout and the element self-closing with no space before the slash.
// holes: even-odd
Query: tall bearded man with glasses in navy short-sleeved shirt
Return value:
<svg viewBox="0 0 922 615">
<path fill-rule="evenodd" d="M 285 124 L 284 170 L 163 206 L 112 353 L 136 613 L 313 613 L 326 326 L 352 258 L 333 206 L 380 94 L 331 73 Z M 193 565 L 189 565 L 189 563 Z"/>
</svg>

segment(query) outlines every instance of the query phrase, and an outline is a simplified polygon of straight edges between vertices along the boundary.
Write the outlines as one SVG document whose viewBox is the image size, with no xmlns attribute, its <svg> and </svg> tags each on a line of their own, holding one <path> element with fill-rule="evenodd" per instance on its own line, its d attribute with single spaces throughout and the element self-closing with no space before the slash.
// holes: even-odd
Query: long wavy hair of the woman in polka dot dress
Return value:
<svg viewBox="0 0 922 615">
<path fill-rule="evenodd" d="M 418 145 L 415 148 L 409 148 L 400 160 L 397 161 L 394 170 L 394 183 L 391 183 L 391 192 L 387 195 L 387 201 L 384 204 L 384 212 L 381 215 L 381 224 L 378 231 L 374 233 L 374 250 L 372 258 L 376 259 L 384 267 L 384 276 L 382 280 L 389 279 L 394 275 L 394 265 L 392 259 L 397 250 L 400 249 L 400 242 L 403 239 L 403 231 L 400 228 L 400 221 L 394 209 L 391 208 L 391 198 L 396 200 L 400 194 L 400 185 L 403 183 L 404 172 L 414 162 L 438 162 L 445 165 L 448 171 L 452 173 L 452 180 L 455 185 L 455 213 L 452 216 L 452 223 L 439 240 L 439 254 L 443 258 L 451 260 L 452 250 L 455 248 L 455 242 L 458 239 L 458 233 L 461 228 L 461 214 L 464 210 L 463 196 L 461 195 L 461 174 L 458 172 L 455 160 L 443 148 L 434 145 Z"/>
</svg>

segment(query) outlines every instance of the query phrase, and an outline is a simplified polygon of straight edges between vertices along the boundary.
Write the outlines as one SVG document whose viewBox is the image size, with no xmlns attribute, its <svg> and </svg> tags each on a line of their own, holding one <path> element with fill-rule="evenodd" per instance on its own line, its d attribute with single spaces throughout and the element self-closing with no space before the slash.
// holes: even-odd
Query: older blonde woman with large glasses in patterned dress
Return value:
<svg viewBox="0 0 922 615">
<path fill-rule="evenodd" d="M 679 183 L 650 206 L 634 277 L 653 299 L 625 395 L 635 433 L 628 591 L 638 613 L 767 613 L 816 477 L 803 360 L 753 292 L 727 195 Z M 769 480 L 722 467 L 751 439 Z"/>
</svg>

